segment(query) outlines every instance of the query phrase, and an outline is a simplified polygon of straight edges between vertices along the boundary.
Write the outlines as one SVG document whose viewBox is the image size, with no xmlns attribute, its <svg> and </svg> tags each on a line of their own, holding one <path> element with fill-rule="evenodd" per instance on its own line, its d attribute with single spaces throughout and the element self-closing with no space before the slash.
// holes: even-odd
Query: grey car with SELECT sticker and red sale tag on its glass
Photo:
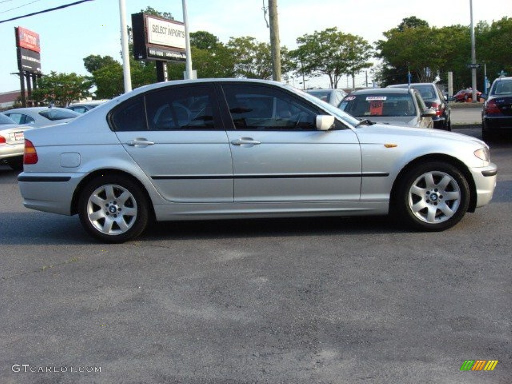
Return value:
<svg viewBox="0 0 512 384">
<path fill-rule="evenodd" d="M 436 116 L 418 91 L 403 88 L 354 91 L 345 97 L 339 108 L 358 119 L 414 128 L 432 129 L 432 118 Z"/>
</svg>

